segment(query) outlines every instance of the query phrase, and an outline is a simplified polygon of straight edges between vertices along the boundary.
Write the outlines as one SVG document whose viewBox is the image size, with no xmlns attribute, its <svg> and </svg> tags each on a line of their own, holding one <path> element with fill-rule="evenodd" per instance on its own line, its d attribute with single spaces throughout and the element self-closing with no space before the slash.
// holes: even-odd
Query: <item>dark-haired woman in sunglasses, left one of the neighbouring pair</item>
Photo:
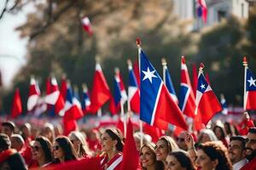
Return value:
<svg viewBox="0 0 256 170">
<path fill-rule="evenodd" d="M 54 160 L 51 149 L 52 144 L 49 142 L 49 139 L 44 136 L 36 138 L 32 144 L 32 158 L 37 162 L 32 167 L 49 166 Z"/>
</svg>

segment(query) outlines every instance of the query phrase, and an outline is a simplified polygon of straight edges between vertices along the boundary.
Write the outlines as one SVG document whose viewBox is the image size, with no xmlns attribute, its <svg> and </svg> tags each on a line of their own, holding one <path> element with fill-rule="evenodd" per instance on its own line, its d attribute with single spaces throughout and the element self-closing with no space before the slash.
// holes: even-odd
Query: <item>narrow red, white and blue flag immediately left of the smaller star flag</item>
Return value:
<svg viewBox="0 0 256 170">
<path fill-rule="evenodd" d="M 180 98 L 179 107 L 183 114 L 194 118 L 195 117 L 195 95 L 189 79 L 188 67 L 185 63 L 185 58 L 181 59 L 181 83 L 180 83 Z"/>
</svg>

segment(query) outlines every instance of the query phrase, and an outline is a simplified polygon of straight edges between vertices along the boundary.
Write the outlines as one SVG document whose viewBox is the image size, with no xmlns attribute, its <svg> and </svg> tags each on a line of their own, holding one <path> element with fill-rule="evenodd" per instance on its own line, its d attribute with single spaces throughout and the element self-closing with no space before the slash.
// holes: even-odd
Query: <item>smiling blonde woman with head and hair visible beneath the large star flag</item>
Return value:
<svg viewBox="0 0 256 170">
<path fill-rule="evenodd" d="M 172 150 L 178 150 L 178 146 L 174 139 L 170 136 L 162 136 L 158 139 L 156 146 L 155 146 L 155 155 L 157 161 L 162 161 L 165 167 L 166 164 L 166 157 Z"/>
</svg>

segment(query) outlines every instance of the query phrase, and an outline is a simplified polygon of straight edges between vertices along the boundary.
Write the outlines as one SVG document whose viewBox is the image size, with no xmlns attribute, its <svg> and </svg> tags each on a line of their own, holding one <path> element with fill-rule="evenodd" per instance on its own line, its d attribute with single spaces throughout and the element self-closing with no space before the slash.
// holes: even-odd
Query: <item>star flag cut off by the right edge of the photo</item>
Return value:
<svg viewBox="0 0 256 170">
<path fill-rule="evenodd" d="M 245 106 L 246 110 L 256 110 L 256 78 L 253 76 L 253 72 L 246 66 L 245 73 Z"/>
</svg>

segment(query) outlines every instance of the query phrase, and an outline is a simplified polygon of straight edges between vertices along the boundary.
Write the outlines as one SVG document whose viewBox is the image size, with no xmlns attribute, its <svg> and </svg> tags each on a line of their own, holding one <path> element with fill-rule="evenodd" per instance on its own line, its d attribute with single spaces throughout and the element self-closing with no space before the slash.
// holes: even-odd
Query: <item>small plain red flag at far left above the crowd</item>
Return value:
<svg viewBox="0 0 256 170">
<path fill-rule="evenodd" d="M 11 117 L 16 118 L 17 116 L 20 116 L 22 113 L 22 105 L 21 105 L 21 99 L 20 99 L 20 90 L 19 88 L 16 88 L 15 90 L 15 97 L 13 99 L 13 105 L 11 108 Z"/>
</svg>

